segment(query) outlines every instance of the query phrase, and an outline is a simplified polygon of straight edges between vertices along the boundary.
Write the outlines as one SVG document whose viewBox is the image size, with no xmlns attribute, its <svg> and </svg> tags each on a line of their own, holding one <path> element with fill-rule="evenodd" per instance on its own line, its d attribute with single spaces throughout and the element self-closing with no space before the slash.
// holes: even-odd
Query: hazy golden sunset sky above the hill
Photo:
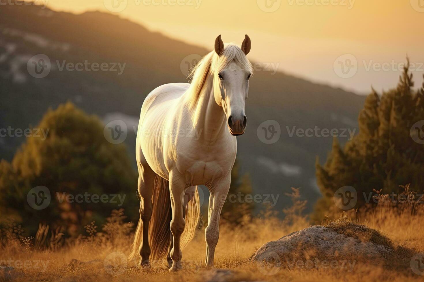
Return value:
<svg viewBox="0 0 424 282">
<path fill-rule="evenodd" d="M 416 63 L 417 83 L 424 74 L 424 0 L 48 0 L 47 6 L 117 14 L 208 49 L 219 34 L 240 44 L 247 33 L 251 59 L 357 92 L 396 85 L 406 54 Z M 351 55 L 357 71 L 340 74 L 338 60 L 347 66 Z"/>
</svg>

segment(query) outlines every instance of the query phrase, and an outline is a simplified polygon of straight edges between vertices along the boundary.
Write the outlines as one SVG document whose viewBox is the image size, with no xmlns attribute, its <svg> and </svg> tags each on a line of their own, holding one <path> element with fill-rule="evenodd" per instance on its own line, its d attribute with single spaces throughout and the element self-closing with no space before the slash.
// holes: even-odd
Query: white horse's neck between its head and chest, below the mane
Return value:
<svg viewBox="0 0 424 282">
<path fill-rule="evenodd" d="M 193 112 L 195 130 L 200 138 L 207 142 L 219 141 L 226 130 L 226 118 L 222 107 L 215 101 L 212 79 L 201 91 L 198 103 Z"/>
</svg>

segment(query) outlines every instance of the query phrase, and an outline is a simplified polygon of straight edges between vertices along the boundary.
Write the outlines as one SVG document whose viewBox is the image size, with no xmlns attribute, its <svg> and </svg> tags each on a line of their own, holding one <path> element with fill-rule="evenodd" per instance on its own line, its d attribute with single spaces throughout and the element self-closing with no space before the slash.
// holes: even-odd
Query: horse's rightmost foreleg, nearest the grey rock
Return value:
<svg viewBox="0 0 424 282">
<path fill-rule="evenodd" d="M 212 186 L 209 196 L 208 226 L 205 230 L 206 267 L 214 267 L 215 247 L 219 238 L 219 218 L 230 189 L 231 172 L 218 185 Z"/>
</svg>

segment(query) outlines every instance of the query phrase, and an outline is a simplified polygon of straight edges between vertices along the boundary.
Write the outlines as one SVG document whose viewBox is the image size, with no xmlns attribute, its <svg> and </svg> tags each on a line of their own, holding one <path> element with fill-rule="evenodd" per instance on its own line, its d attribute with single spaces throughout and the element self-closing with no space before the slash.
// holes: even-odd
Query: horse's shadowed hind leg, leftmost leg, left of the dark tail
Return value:
<svg viewBox="0 0 424 282">
<path fill-rule="evenodd" d="M 141 256 L 140 265 L 149 267 L 150 266 L 150 246 L 149 246 L 149 222 L 152 216 L 153 203 L 153 183 L 156 177 L 156 173 L 148 166 L 147 163 L 141 164 L 138 162 L 138 192 L 140 194 L 140 220 L 143 225 L 143 239 L 139 249 Z"/>
</svg>

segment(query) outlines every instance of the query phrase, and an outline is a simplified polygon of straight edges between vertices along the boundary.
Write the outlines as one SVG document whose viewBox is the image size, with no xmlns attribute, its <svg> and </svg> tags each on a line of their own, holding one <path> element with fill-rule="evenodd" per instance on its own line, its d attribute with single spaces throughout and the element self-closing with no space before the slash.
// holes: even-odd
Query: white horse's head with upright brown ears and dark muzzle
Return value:
<svg viewBox="0 0 424 282">
<path fill-rule="evenodd" d="M 253 72 L 246 57 L 250 47 L 247 35 L 241 49 L 234 44 L 224 47 L 221 36 L 215 40 L 215 52 L 219 56 L 213 68 L 215 101 L 223 108 L 232 135 L 243 134 L 247 124 L 245 100 Z"/>
</svg>

